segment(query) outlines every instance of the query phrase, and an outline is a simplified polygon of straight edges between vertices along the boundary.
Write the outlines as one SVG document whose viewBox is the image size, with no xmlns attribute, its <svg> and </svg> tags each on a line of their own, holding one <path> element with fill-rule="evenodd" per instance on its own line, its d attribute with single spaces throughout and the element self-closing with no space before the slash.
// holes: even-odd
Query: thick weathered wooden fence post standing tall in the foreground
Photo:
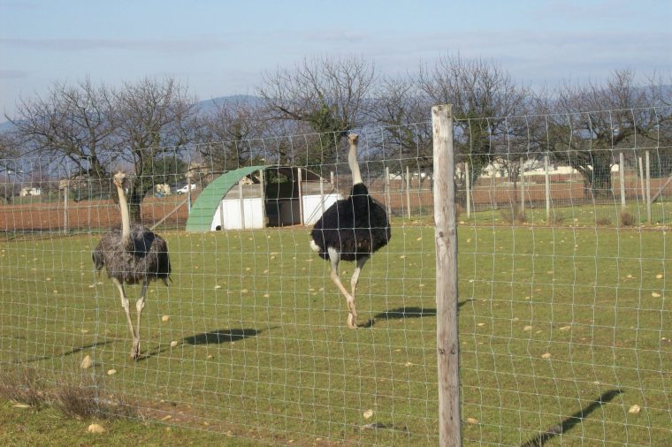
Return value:
<svg viewBox="0 0 672 447">
<path fill-rule="evenodd" d="M 431 108 L 434 134 L 434 239 L 436 241 L 439 445 L 462 445 L 460 342 L 457 319 L 457 230 L 453 154 L 453 108 Z"/>
</svg>

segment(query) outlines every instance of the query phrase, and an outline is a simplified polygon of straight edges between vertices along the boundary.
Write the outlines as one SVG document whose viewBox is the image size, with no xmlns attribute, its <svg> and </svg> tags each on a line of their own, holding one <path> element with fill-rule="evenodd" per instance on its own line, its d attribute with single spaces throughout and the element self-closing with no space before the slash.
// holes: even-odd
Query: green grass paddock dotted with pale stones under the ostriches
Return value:
<svg viewBox="0 0 672 447">
<path fill-rule="evenodd" d="M 546 445 L 668 443 L 667 232 L 494 216 L 459 228 L 465 443 L 517 445 L 554 426 Z M 303 228 L 162 235 L 173 283 L 149 290 L 137 362 L 116 288 L 92 272 L 98 235 L 4 242 L 3 369 L 27 365 L 52 385 L 86 377 L 145 420 L 261 443 L 438 443 L 431 225 L 393 223 L 360 277 L 359 330 Z M 82 370 L 85 355 L 95 363 Z"/>
</svg>

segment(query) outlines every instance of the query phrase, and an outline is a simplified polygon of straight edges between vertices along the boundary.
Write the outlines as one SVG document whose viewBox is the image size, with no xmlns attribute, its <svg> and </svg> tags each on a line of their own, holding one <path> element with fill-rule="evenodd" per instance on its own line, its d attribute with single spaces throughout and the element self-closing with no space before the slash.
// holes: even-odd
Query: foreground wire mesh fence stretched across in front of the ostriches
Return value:
<svg viewBox="0 0 672 447">
<path fill-rule="evenodd" d="M 672 437 L 662 111 L 455 120 L 464 443 Z M 175 148 L 141 176 L 3 161 L 5 385 L 29 370 L 45 390 L 90 391 L 102 413 L 262 443 L 439 443 L 431 124 L 359 134 L 392 238 L 359 277 L 357 330 L 309 246 L 352 187 L 345 136 Z M 149 284 L 138 360 L 118 290 L 91 262 L 121 223 L 118 168 L 132 220 L 172 262 L 169 287 Z M 346 287 L 354 269 L 340 264 Z M 140 292 L 126 287 L 132 316 Z"/>
</svg>

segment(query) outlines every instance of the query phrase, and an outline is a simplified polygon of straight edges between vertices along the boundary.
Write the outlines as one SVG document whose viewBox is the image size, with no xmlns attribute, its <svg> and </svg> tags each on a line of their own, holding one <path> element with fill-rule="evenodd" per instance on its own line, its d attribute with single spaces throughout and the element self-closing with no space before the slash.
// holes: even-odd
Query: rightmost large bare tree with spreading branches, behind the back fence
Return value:
<svg viewBox="0 0 672 447">
<path fill-rule="evenodd" d="M 565 83 L 555 96 L 540 109 L 548 114 L 547 150 L 578 170 L 596 197 L 612 193 L 615 150 L 633 148 L 635 142 L 639 148 L 660 148 L 672 117 L 665 90 L 653 82 L 639 87 L 631 70 L 615 71 L 606 85 Z"/>
</svg>

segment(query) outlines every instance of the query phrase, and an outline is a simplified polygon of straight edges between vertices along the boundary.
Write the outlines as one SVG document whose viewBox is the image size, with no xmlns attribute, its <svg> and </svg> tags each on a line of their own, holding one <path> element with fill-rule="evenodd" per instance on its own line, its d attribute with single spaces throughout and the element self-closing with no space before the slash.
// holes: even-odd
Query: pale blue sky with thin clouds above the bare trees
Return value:
<svg viewBox="0 0 672 447">
<path fill-rule="evenodd" d="M 670 0 L 414 3 L 0 0 L 0 112 L 87 76 L 171 75 L 201 100 L 254 94 L 263 72 L 311 56 L 361 56 L 394 75 L 459 52 L 533 87 L 672 72 Z"/>
</svg>

